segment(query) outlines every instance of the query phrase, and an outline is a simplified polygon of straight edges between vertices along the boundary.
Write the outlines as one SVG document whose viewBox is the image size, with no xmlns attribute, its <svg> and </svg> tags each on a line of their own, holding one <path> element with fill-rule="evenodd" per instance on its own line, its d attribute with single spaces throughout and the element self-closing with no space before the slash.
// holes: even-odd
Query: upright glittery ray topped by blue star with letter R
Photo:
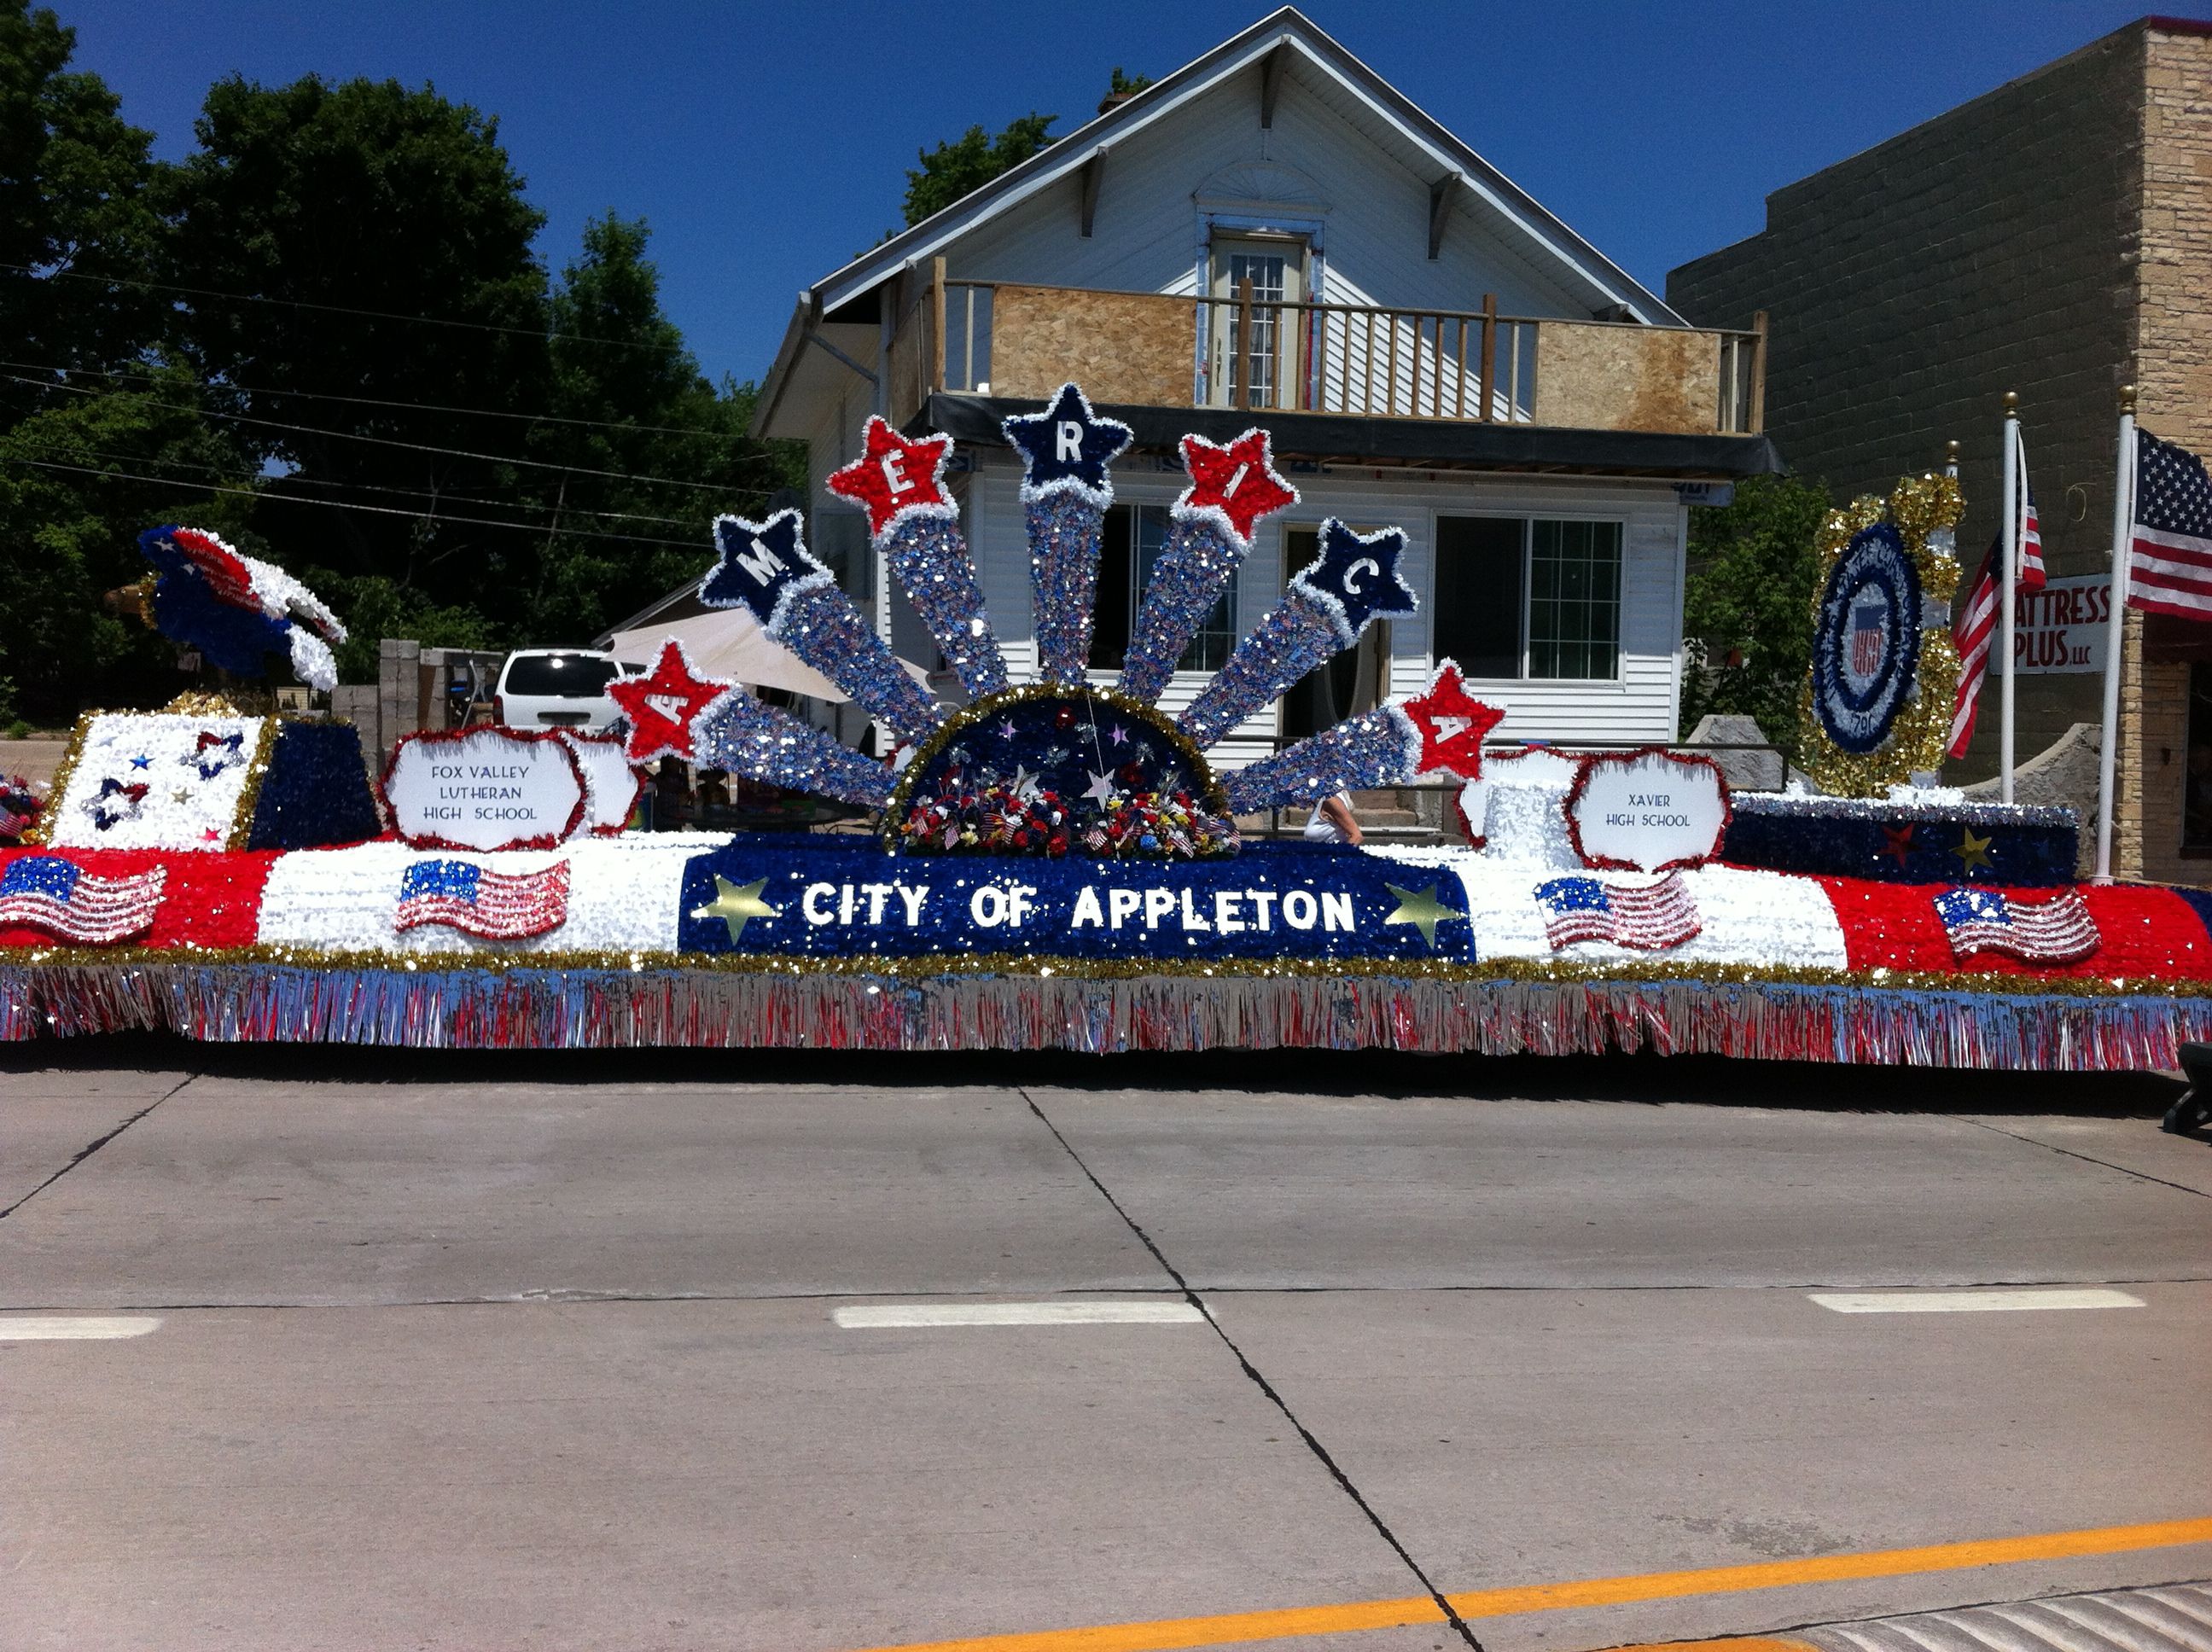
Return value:
<svg viewBox="0 0 2212 1652">
<path fill-rule="evenodd" d="M 1029 588 L 1037 628 L 1037 675 L 1075 688 L 1091 663 L 1099 533 L 1113 504 L 1106 467 L 1130 429 L 1099 418 L 1073 383 L 1042 414 L 1015 414 L 1006 440 L 1022 456 L 1022 515 L 1029 526 Z M 1004 686 L 1004 681 L 1000 683 Z"/>
</svg>

